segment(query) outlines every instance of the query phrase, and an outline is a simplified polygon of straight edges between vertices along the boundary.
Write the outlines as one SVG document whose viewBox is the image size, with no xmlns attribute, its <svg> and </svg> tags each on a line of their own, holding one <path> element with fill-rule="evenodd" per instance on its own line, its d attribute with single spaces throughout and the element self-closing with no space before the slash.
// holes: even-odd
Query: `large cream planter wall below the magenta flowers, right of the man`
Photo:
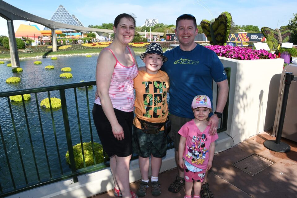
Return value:
<svg viewBox="0 0 297 198">
<path fill-rule="evenodd" d="M 219 58 L 231 70 L 226 133 L 234 141 L 229 141 L 230 144 L 238 144 L 273 127 L 284 60 Z M 213 85 L 215 109 L 217 89 L 216 83 Z"/>
</svg>

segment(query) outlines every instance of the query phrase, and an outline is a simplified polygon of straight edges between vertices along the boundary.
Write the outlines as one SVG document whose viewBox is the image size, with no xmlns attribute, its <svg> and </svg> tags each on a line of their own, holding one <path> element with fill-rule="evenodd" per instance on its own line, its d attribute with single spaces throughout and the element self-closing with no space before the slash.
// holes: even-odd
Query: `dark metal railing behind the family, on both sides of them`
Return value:
<svg viewBox="0 0 297 198">
<path fill-rule="evenodd" d="M 231 70 L 225 68 L 225 71 L 230 86 Z M 69 178 L 77 182 L 78 175 L 109 166 L 104 151 L 104 162 L 97 164 L 95 158 L 94 142 L 100 140 L 97 135 L 93 136 L 92 127 L 94 126 L 88 96 L 88 87 L 94 85 L 96 81 L 0 93 L 0 116 L 2 116 L 0 120 L 2 140 L 2 146 L 0 144 L 0 197 Z M 79 94 L 78 90 L 80 90 Z M 33 94 L 32 98 L 35 98 L 36 104 L 32 98 L 30 102 L 24 101 L 24 94 Z M 15 95 L 21 95 L 22 105 L 20 102 L 11 102 L 10 97 Z M 51 95 L 60 97 L 61 108 L 59 110 L 52 108 Z M 38 99 L 40 97 L 49 98 L 49 110 L 40 108 Z M 92 95 L 91 104 L 93 104 L 93 98 Z M 228 103 L 229 93 L 218 132 L 226 131 Z M 82 107 L 79 108 L 79 106 Z M 29 113 L 28 110 L 30 110 Z M 81 113 L 83 113 L 83 121 Z M 58 122 L 56 122 L 57 119 Z M 96 141 L 95 138 L 97 138 Z M 85 163 L 83 140 L 86 139 L 92 143 L 94 160 L 92 166 L 86 166 Z M 75 168 L 73 141 L 81 144 L 84 168 Z M 171 148 L 173 148 L 173 142 L 169 139 L 167 149 Z M 70 168 L 65 166 L 65 157 L 61 157 L 61 153 L 66 153 L 67 150 L 71 162 Z M 135 158 L 137 156 L 133 155 L 132 159 Z"/>
</svg>

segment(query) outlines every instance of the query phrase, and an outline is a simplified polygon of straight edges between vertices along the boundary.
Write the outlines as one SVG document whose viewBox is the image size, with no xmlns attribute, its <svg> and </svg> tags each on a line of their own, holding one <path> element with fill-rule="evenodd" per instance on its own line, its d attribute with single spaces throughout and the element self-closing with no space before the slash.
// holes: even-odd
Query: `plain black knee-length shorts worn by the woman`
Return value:
<svg viewBox="0 0 297 198">
<path fill-rule="evenodd" d="M 94 103 L 93 120 L 97 129 L 98 136 L 105 153 L 109 157 L 117 155 L 118 157 L 127 157 L 132 153 L 131 137 L 133 126 L 133 111 L 125 112 L 114 109 L 118 123 L 123 127 L 125 139 L 117 140 L 111 130 L 110 122 L 105 116 L 102 106 Z"/>
</svg>

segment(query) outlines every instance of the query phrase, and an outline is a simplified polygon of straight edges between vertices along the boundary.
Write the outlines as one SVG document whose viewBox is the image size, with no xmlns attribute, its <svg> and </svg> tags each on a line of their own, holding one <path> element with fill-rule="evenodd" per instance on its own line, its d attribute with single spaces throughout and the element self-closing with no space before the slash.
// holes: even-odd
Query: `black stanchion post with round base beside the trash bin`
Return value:
<svg viewBox="0 0 297 198">
<path fill-rule="evenodd" d="M 285 152 L 288 152 L 291 150 L 291 147 L 289 144 L 281 142 L 281 137 L 282 137 L 282 128 L 284 126 L 290 84 L 293 79 L 294 79 L 293 73 L 286 72 L 285 82 L 284 82 L 285 87 L 284 87 L 283 98 L 282 98 L 282 110 L 281 110 L 281 114 L 280 114 L 280 118 L 279 118 L 278 133 L 276 135 L 276 140 L 266 140 L 264 142 L 264 146 L 267 149 L 272 150 L 272 151 L 285 153 Z"/>
</svg>

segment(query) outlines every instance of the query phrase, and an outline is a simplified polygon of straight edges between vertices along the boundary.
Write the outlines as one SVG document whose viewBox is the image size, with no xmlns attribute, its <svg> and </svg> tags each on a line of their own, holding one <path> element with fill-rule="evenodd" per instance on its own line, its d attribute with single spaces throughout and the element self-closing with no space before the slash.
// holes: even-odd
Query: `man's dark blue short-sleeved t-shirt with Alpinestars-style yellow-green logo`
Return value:
<svg viewBox="0 0 297 198">
<path fill-rule="evenodd" d="M 223 64 L 217 55 L 202 45 L 191 51 L 176 47 L 164 53 L 168 58 L 161 70 L 170 80 L 169 112 L 183 118 L 194 118 L 192 100 L 197 95 L 207 95 L 213 106 L 212 81 L 227 79 Z"/>
</svg>

